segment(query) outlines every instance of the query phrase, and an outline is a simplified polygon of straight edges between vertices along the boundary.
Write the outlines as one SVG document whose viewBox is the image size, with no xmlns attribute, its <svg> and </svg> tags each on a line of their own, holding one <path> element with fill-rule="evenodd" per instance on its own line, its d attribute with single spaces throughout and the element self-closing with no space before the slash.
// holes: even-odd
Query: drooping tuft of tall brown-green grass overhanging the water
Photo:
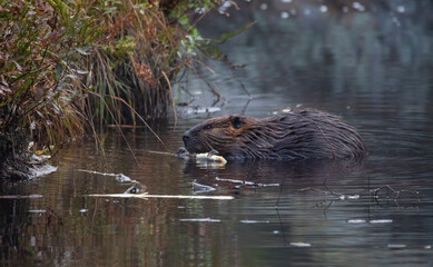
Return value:
<svg viewBox="0 0 433 267">
<path fill-rule="evenodd" d="M 99 18 L 95 22 L 106 38 L 86 58 L 86 85 L 96 85 L 88 109 L 94 118 L 137 122 L 130 108 L 151 118 L 165 116 L 171 93 L 164 75 L 174 73 L 180 29 L 171 27 L 157 6 L 136 0 L 91 7 L 89 12 Z"/>
</svg>

